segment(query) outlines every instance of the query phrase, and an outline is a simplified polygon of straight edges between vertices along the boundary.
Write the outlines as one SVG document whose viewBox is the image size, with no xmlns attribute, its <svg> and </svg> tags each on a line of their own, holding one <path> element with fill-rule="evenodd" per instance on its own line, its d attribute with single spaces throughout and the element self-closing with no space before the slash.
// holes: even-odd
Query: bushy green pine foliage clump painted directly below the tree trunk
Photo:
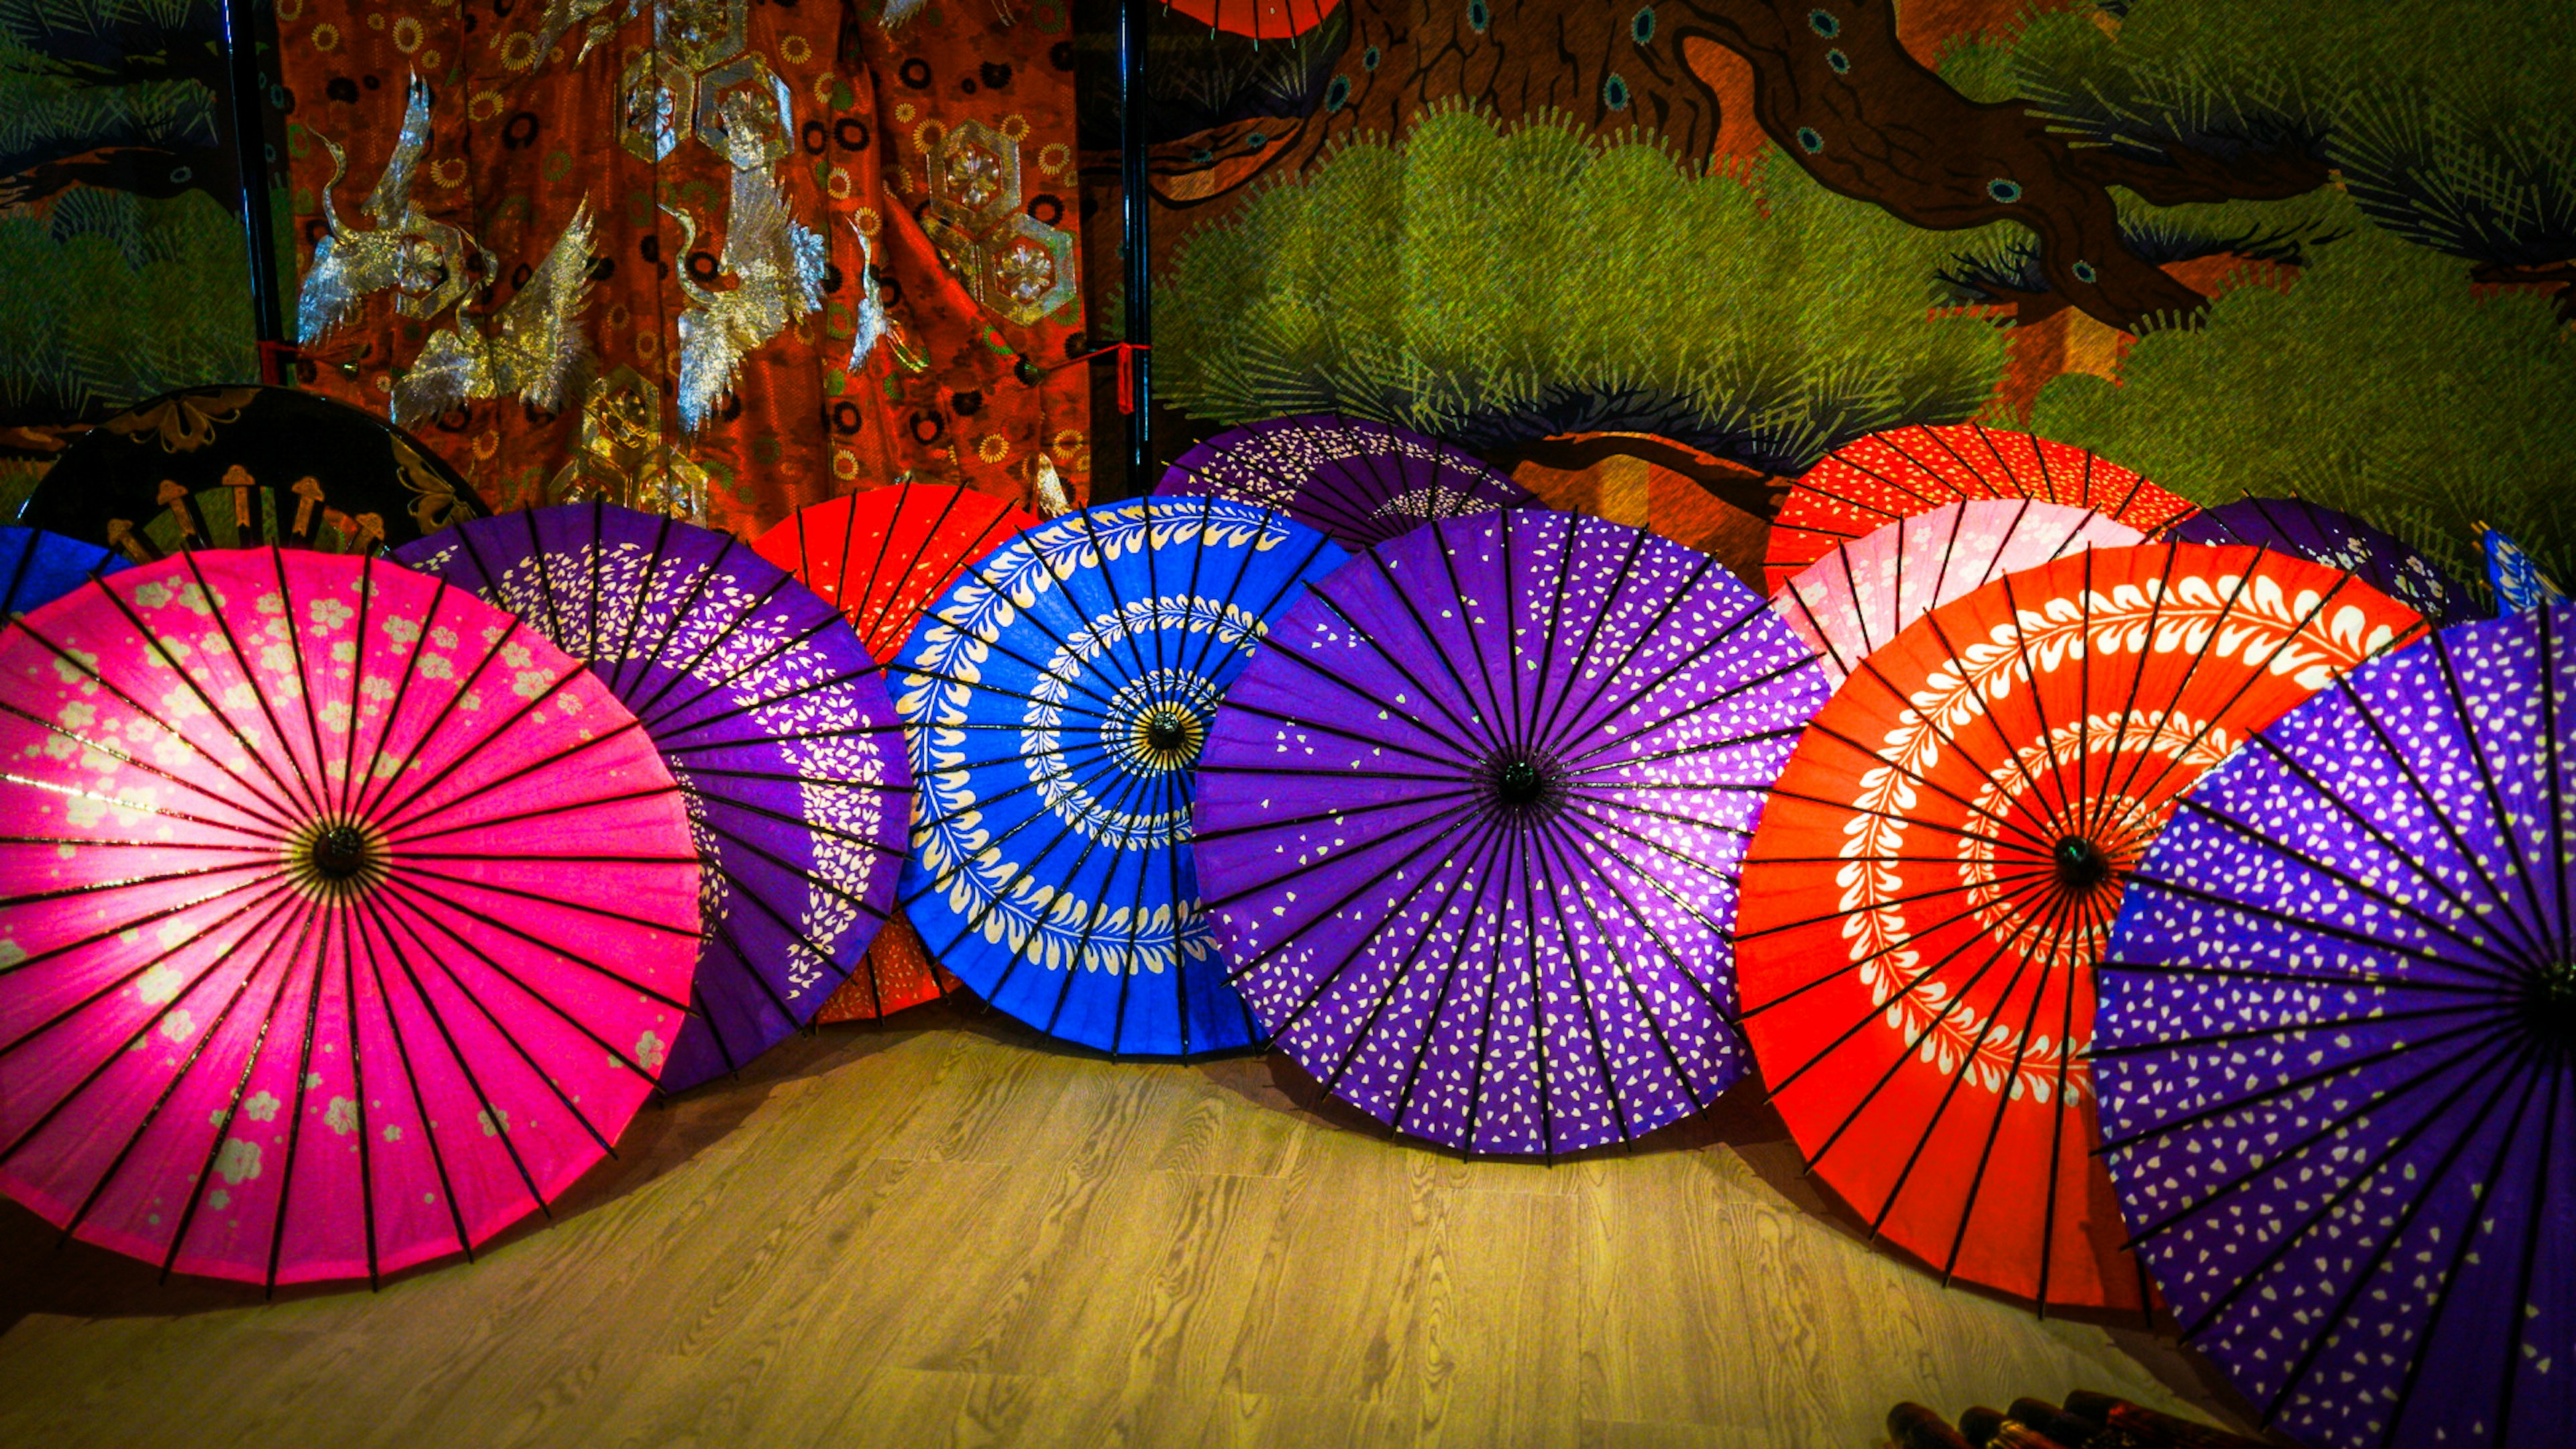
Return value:
<svg viewBox="0 0 2576 1449">
<path fill-rule="evenodd" d="M 1790 165 L 1448 108 L 1275 180 L 1154 299 L 1162 387 L 1224 423 L 1350 413 L 1468 449 L 1656 433 L 1798 472 L 1994 394 L 2004 338 L 1937 315 L 1963 245 Z"/>
</svg>

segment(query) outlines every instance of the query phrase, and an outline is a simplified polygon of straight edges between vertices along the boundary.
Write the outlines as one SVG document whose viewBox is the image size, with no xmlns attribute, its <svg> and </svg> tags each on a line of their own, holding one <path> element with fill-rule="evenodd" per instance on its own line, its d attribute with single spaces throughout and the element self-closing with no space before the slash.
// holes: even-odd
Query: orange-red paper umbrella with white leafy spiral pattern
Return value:
<svg viewBox="0 0 2576 1449">
<path fill-rule="evenodd" d="M 2084 1060 L 2123 879 L 2251 730 L 2416 634 L 2347 572 L 2143 544 L 1868 655 L 1780 773 L 1736 920 L 1744 1034 L 1816 1176 L 1945 1276 L 2143 1307 Z"/>
</svg>

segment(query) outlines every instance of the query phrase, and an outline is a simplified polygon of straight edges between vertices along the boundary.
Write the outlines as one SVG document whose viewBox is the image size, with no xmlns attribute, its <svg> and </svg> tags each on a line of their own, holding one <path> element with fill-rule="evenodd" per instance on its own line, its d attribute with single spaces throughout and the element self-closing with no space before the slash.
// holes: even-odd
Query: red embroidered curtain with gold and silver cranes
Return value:
<svg viewBox="0 0 2576 1449">
<path fill-rule="evenodd" d="M 495 505 L 755 531 L 907 472 L 1079 500 L 1061 3 L 276 13 L 299 374 Z"/>
</svg>

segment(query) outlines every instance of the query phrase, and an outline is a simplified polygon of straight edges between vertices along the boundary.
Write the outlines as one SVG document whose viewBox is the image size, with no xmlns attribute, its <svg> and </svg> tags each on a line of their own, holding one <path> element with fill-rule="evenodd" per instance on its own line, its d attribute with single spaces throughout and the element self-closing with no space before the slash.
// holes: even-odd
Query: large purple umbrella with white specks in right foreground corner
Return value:
<svg viewBox="0 0 2576 1449">
<path fill-rule="evenodd" d="M 2251 735 L 2128 879 L 2094 1075 L 2190 1341 L 2326 1446 L 2576 1434 L 2576 611 Z"/>
</svg>

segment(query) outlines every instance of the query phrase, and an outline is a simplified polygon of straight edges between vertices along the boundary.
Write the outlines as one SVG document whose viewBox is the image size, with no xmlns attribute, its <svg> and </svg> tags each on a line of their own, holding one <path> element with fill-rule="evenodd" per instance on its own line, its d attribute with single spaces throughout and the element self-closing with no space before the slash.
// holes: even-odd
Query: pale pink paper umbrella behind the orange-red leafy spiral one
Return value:
<svg viewBox="0 0 2576 1449">
<path fill-rule="evenodd" d="M 1772 611 L 1824 655 L 1824 678 L 1842 688 L 1862 657 L 1953 598 L 2079 549 L 2143 541 L 2110 513 L 2069 503 L 1950 503 L 1834 547 L 1772 593 Z"/>
</svg>

